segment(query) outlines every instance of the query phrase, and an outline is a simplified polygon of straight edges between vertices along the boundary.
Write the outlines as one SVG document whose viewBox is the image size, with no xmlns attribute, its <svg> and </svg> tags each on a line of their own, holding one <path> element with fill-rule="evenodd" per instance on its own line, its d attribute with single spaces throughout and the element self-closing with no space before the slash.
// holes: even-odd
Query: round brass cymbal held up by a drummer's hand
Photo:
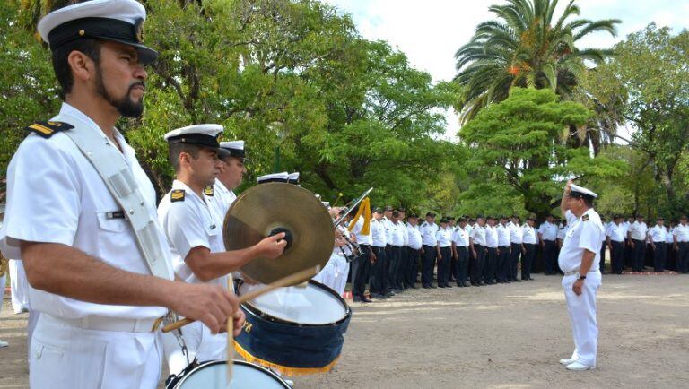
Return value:
<svg viewBox="0 0 689 389">
<path fill-rule="evenodd" d="M 228 251 L 254 246 L 283 230 L 288 242 L 283 255 L 257 257 L 242 266 L 241 272 L 270 283 L 327 264 L 335 242 L 333 220 L 318 198 L 301 186 L 282 182 L 252 186 L 232 203 L 222 225 Z"/>
</svg>

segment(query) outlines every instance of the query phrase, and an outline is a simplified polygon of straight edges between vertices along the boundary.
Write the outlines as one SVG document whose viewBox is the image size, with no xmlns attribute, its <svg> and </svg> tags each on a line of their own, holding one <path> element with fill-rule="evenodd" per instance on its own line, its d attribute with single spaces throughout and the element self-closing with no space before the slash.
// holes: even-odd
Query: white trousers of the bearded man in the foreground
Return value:
<svg viewBox="0 0 689 389">
<path fill-rule="evenodd" d="M 156 333 L 84 330 L 41 314 L 31 340 L 29 382 L 36 389 L 154 389 L 161 360 Z"/>
</svg>

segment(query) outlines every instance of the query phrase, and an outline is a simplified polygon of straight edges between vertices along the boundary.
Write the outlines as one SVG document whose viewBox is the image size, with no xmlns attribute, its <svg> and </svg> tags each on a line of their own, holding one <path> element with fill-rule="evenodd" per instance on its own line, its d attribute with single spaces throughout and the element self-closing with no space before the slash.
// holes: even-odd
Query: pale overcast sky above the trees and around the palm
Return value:
<svg viewBox="0 0 689 389">
<path fill-rule="evenodd" d="M 434 81 L 449 80 L 455 75 L 454 54 L 474 35 L 475 26 L 493 19 L 488 12 L 500 0 L 326 0 L 343 13 L 350 13 L 365 39 L 387 40 L 406 53 L 411 65 L 431 73 Z M 561 0 L 562 8 L 569 3 Z M 627 34 L 642 30 L 650 22 L 670 26 L 676 31 L 686 28 L 689 0 L 578 0 L 579 18 L 589 20 L 620 19 L 616 38 L 596 33 L 580 40 L 580 48 L 609 48 Z M 559 13 L 558 13 L 559 15 Z M 454 139 L 458 118 L 447 114 L 446 136 Z"/>
</svg>

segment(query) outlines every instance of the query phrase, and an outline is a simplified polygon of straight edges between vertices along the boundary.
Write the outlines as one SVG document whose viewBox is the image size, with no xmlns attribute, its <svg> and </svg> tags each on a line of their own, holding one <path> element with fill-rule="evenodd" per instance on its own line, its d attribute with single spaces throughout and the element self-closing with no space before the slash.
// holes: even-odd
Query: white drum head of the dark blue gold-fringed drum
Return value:
<svg viewBox="0 0 689 389">
<path fill-rule="evenodd" d="M 240 294 L 245 294 L 253 288 L 257 287 L 242 284 Z M 261 316 L 275 317 L 286 323 L 306 325 L 336 324 L 342 321 L 349 312 L 342 298 L 314 281 L 310 281 L 306 288 L 291 286 L 273 290 L 250 300 L 246 305 L 259 311 Z"/>
</svg>

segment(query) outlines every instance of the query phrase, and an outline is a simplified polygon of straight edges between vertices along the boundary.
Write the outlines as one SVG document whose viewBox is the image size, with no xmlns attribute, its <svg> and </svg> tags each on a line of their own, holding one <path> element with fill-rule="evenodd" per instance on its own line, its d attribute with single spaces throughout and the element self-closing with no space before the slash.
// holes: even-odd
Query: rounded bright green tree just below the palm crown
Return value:
<svg viewBox="0 0 689 389">
<path fill-rule="evenodd" d="M 560 101 L 554 91 L 513 88 L 508 99 L 482 109 L 459 133 L 473 151 L 468 168 L 484 178 L 462 197 L 499 213 L 523 213 L 521 198 L 526 211 L 543 217 L 559 204 L 564 177 L 621 174 L 620 163 L 590 158 L 588 151 L 563 141 L 571 125 L 590 116 L 579 103 Z M 496 202 L 503 197 L 508 201 Z"/>
</svg>

